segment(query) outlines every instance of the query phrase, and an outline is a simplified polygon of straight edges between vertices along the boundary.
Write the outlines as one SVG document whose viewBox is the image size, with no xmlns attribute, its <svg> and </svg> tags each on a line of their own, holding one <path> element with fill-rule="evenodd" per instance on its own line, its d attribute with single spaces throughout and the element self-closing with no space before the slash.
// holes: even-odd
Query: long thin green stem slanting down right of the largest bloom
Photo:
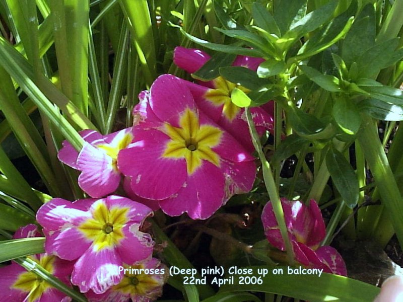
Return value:
<svg viewBox="0 0 403 302">
<path fill-rule="evenodd" d="M 259 140 L 259 135 L 256 132 L 256 128 L 253 123 L 252 115 L 250 114 L 250 109 L 245 108 L 245 113 L 246 113 L 246 120 L 247 120 L 248 126 L 249 126 L 250 136 L 252 137 L 253 145 L 254 145 L 255 150 L 256 150 L 257 154 L 259 155 L 259 159 L 261 161 L 264 184 L 266 186 L 268 196 L 270 197 L 270 200 L 273 205 L 273 210 L 274 210 L 274 213 L 275 213 L 275 216 L 277 219 L 277 223 L 279 224 L 281 237 L 283 238 L 285 246 L 286 246 L 287 256 L 288 256 L 290 264 L 294 265 L 294 263 L 295 263 L 294 251 L 292 249 L 290 237 L 288 236 L 286 221 L 284 219 L 283 207 L 281 205 L 280 195 L 279 195 L 279 191 L 277 190 L 277 186 L 276 186 L 276 182 L 273 177 L 272 169 L 270 167 L 270 164 L 267 162 L 266 157 L 264 156 L 264 153 L 263 153 L 263 150 L 262 150 L 262 147 L 260 144 L 260 140 Z"/>
</svg>

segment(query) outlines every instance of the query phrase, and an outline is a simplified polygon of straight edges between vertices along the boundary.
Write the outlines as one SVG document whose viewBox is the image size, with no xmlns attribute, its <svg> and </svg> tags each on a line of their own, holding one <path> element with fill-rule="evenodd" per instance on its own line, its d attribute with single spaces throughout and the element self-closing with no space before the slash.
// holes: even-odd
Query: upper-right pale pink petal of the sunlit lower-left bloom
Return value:
<svg viewBox="0 0 403 302">
<path fill-rule="evenodd" d="M 109 211 L 112 210 L 114 207 L 128 208 L 129 209 L 127 213 L 128 223 L 133 222 L 143 223 L 148 216 L 153 215 L 153 211 L 148 206 L 140 202 L 128 199 L 126 197 L 111 195 L 106 197 L 105 204 L 109 209 Z"/>
</svg>

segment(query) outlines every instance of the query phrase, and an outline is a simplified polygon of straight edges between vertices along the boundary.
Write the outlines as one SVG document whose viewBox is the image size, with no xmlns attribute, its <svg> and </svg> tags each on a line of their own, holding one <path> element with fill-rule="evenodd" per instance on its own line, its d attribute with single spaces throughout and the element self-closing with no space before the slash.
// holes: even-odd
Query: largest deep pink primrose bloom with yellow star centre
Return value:
<svg viewBox="0 0 403 302">
<path fill-rule="evenodd" d="M 117 161 L 132 193 L 158 200 L 168 215 L 206 219 L 233 194 L 251 190 L 253 157 L 198 110 L 183 80 L 161 75 L 140 99 L 135 139 Z"/>
</svg>

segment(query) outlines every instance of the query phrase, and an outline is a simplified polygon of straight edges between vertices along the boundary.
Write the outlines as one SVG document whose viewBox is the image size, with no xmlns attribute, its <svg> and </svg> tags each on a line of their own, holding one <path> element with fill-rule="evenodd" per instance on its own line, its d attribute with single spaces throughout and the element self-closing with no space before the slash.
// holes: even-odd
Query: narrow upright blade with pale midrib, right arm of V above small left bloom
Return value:
<svg viewBox="0 0 403 302">
<path fill-rule="evenodd" d="M 110 89 L 108 110 L 106 112 L 105 133 L 110 133 L 115 121 L 116 111 L 122 98 L 123 80 L 127 69 L 127 52 L 129 47 L 129 30 L 123 22 L 120 31 L 119 47 L 117 49 L 113 67 L 112 87 Z"/>
</svg>

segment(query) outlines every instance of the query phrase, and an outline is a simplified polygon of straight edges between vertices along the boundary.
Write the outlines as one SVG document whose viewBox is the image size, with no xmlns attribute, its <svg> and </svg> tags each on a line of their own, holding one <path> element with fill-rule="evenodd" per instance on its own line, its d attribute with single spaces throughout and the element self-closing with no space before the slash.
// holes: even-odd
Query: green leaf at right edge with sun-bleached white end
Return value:
<svg viewBox="0 0 403 302">
<path fill-rule="evenodd" d="M 369 116 L 383 121 L 403 120 L 403 107 L 385 103 L 376 99 L 363 100 L 358 109 Z"/>
</svg>

